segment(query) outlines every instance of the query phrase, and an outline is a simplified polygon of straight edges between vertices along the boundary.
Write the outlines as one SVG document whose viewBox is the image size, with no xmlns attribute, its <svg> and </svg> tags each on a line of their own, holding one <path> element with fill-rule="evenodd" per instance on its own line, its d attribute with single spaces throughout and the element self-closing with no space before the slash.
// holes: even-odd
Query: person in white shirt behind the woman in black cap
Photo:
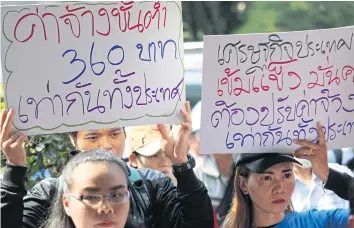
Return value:
<svg viewBox="0 0 354 228">
<path fill-rule="evenodd" d="M 349 208 L 349 201 L 340 198 L 332 191 L 323 189 L 322 181 L 312 172 L 311 162 L 306 159 L 299 159 L 299 162 L 302 165 L 293 166 L 296 184 L 292 202 L 295 211 Z M 344 165 L 328 163 L 328 166 L 338 172 L 354 176 L 353 172 Z"/>
</svg>

